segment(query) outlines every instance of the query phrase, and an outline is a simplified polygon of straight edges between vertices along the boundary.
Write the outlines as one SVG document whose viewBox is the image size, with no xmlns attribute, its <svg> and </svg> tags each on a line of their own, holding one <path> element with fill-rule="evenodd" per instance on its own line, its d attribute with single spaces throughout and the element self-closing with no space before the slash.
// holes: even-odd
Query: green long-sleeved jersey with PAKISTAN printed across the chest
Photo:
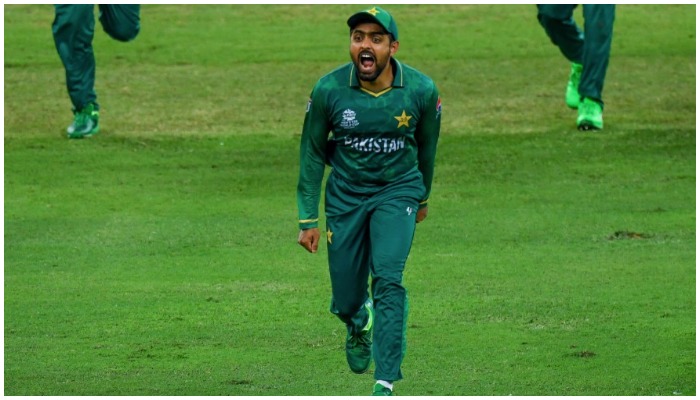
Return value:
<svg viewBox="0 0 700 400">
<path fill-rule="evenodd" d="M 442 105 L 426 75 L 390 59 L 391 87 L 360 86 L 348 63 L 322 77 L 306 108 L 301 135 L 297 205 L 301 229 L 318 226 L 325 165 L 356 187 L 385 186 L 420 172 L 430 196 Z"/>
</svg>

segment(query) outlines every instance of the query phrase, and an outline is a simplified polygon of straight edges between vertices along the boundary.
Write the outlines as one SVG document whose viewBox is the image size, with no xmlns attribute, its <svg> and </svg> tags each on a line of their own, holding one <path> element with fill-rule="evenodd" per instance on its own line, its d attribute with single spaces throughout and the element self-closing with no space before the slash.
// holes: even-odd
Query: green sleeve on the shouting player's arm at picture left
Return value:
<svg viewBox="0 0 700 400">
<path fill-rule="evenodd" d="M 311 92 L 306 106 L 304 127 L 301 133 L 297 207 L 299 228 L 318 226 L 318 207 L 321 201 L 321 184 L 326 160 L 326 144 L 330 124 L 325 111 L 325 101 L 318 84 Z"/>
</svg>

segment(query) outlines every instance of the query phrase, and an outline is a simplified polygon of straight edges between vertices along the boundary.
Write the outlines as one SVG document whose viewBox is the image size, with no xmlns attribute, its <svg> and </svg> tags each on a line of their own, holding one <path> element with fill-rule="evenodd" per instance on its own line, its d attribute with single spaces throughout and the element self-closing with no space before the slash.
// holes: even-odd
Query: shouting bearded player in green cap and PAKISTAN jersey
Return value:
<svg viewBox="0 0 700 400">
<path fill-rule="evenodd" d="M 399 32 L 386 10 L 371 7 L 347 24 L 352 61 L 316 83 L 306 108 L 298 243 L 318 250 L 328 164 L 330 311 L 347 326 L 350 369 L 364 373 L 374 358 L 373 394 L 391 395 L 406 348 L 403 270 L 416 223 L 428 215 L 442 106 L 435 83 L 394 58 Z"/>
</svg>

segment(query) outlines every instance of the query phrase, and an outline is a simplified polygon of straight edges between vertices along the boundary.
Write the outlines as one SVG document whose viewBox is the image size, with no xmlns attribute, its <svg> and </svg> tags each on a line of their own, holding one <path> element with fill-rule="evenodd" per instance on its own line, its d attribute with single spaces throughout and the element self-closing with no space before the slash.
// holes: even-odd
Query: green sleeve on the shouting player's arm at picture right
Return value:
<svg viewBox="0 0 700 400">
<path fill-rule="evenodd" d="M 432 92 L 429 92 L 425 103 L 426 109 L 418 124 L 415 136 L 418 145 L 418 169 L 423 174 L 423 184 L 425 185 L 425 198 L 422 199 L 419 208 L 424 208 L 428 205 L 428 198 L 432 190 L 435 154 L 442 119 L 440 94 L 435 84 L 432 86 Z"/>
</svg>

